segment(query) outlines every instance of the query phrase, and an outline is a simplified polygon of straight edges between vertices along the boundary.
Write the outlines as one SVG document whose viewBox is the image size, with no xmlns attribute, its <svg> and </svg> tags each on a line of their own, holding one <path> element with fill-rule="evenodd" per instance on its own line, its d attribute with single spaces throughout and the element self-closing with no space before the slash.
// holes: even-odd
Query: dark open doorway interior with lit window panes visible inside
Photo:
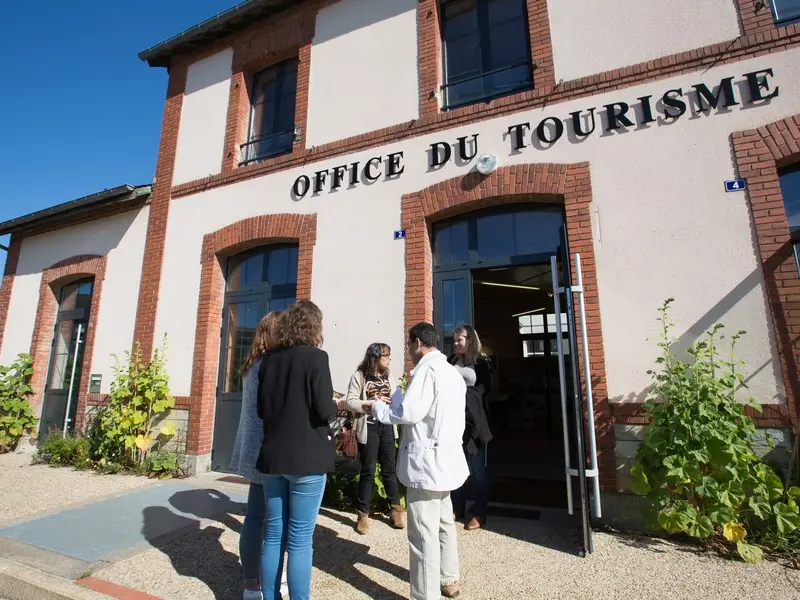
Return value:
<svg viewBox="0 0 800 600">
<path fill-rule="evenodd" d="M 490 501 L 566 507 L 553 279 L 549 262 L 472 272 L 474 325 L 494 364 Z M 569 359 L 567 315 L 560 315 Z"/>
</svg>

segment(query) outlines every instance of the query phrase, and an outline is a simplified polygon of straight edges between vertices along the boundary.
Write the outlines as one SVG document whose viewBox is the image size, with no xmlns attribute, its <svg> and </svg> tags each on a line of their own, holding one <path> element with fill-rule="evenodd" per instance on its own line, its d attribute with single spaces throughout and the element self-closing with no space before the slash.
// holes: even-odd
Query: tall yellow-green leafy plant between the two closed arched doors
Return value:
<svg viewBox="0 0 800 600">
<path fill-rule="evenodd" d="M 142 360 L 138 342 L 133 354 L 126 352 L 122 361 L 114 359 L 108 405 L 97 417 L 97 458 L 101 464 L 115 462 L 141 469 L 150 452 L 175 435 L 174 423 L 162 423 L 175 407 L 166 372 L 166 338 L 149 362 Z"/>
</svg>

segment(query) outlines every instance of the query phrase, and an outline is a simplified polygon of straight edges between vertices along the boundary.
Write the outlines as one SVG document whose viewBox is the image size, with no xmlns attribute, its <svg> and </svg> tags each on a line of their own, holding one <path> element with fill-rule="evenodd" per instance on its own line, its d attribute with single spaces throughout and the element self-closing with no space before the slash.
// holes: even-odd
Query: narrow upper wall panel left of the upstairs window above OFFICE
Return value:
<svg viewBox="0 0 800 600">
<path fill-rule="evenodd" d="M 189 66 L 174 185 L 219 173 L 222 168 L 232 60 L 233 50 L 228 48 Z"/>
</svg>

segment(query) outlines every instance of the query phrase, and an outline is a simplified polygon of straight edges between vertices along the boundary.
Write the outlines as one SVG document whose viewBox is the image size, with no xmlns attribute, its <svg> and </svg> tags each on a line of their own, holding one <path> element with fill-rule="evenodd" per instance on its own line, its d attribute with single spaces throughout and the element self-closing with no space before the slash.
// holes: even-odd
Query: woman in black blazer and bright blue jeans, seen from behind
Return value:
<svg viewBox="0 0 800 600">
<path fill-rule="evenodd" d="M 288 550 L 289 597 L 311 590 L 312 537 L 336 451 L 328 422 L 336 416 L 328 355 L 322 345 L 322 311 L 300 300 L 283 313 L 279 347 L 258 370 L 258 416 L 264 441 L 256 468 L 263 474 L 267 526 L 261 553 L 264 600 L 280 598 Z"/>
</svg>

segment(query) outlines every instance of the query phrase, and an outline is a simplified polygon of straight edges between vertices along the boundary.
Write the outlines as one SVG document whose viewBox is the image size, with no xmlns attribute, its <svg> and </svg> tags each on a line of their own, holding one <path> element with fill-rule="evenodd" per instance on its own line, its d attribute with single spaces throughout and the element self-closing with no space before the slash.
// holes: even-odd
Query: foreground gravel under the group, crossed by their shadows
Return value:
<svg viewBox="0 0 800 600">
<path fill-rule="evenodd" d="M 408 598 L 405 532 L 376 522 L 358 536 L 352 516 L 323 509 L 314 544 L 312 597 Z M 241 519 L 204 522 L 183 538 L 99 571 L 96 577 L 166 600 L 236 600 Z M 227 525 L 226 525 L 227 524 Z M 229 527 L 230 526 L 230 527 Z M 231 528 L 232 527 L 232 528 Z M 595 534 L 595 553 L 569 552 L 564 530 L 493 518 L 489 529 L 459 530 L 465 600 L 718 598 L 796 600 L 800 574 L 775 563 L 745 565 L 647 538 Z"/>
</svg>

